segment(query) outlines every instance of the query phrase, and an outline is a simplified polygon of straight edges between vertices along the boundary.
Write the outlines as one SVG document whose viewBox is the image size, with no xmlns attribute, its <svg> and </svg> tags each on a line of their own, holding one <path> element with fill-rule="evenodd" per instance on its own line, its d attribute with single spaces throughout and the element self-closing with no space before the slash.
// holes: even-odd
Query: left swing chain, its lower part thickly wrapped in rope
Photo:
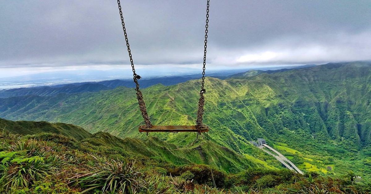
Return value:
<svg viewBox="0 0 371 194">
<path fill-rule="evenodd" d="M 142 117 L 143 117 L 144 122 L 145 122 L 145 125 L 140 126 L 140 127 L 141 128 L 151 128 L 152 123 L 151 123 L 151 120 L 150 120 L 150 116 L 148 116 L 148 113 L 147 113 L 147 108 L 145 106 L 145 102 L 144 102 L 144 99 L 143 99 L 143 94 L 139 90 L 138 79 L 140 79 L 141 76 L 139 76 L 138 74 L 135 73 L 134 62 L 133 62 L 133 58 L 132 58 L 132 55 L 131 55 L 131 50 L 130 50 L 130 45 L 129 45 L 129 40 L 128 40 L 128 34 L 126 33 L 126 28 L 125 28 L 124 16 L 122 16 L 120 0 L 117 0 L 117 4 L 118 4 L 118 9 L 120 10 L 122 30 L 124 30 L 126 46 L 128 47 L 128 53 L 129 53 L 131 68 L 133 70 L 133 79 L 134 79 L 134 83 L 135 83 L 135 86 L 136 86 L 135 91 L 137 91 L 137 99 L 138 99 L 139 109 L 142 113 Z"/>
</svg>

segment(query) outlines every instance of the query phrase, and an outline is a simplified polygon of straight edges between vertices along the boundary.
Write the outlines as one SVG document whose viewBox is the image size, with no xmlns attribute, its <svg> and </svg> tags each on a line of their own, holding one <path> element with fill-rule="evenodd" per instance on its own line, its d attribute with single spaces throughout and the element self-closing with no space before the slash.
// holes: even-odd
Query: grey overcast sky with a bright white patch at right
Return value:
<svg viewBox="0 0 371 194">
<path fill-rule="evenodd" d="M 201 68 L 206 0 L 121 1 L 135 64 Z M 207 68 L 371 59 L 370 0 L 210 1 Z M 115 0 L 0 0 L 0 76 L 128 64 Z"/>
</svg>

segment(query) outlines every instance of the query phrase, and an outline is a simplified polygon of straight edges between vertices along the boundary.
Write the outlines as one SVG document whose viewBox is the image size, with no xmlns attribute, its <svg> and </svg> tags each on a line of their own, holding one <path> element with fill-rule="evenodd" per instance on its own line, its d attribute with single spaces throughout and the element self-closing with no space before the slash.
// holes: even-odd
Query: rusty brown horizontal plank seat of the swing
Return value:
<svg viewBox="0 0 371 194">
<path fill-rule="evenodd" d="M 208 132 L 209 127 L 202 127 L 201 133 Z M 196 125 L 153 125 L 151 128 L 139 126 L 139 132 L 198 132 Z"/>
</svg>

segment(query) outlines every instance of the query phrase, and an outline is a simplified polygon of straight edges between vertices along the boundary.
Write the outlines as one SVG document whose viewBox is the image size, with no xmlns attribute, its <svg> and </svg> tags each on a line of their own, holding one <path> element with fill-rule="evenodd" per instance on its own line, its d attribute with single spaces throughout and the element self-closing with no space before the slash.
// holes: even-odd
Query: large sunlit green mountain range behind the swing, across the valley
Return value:
<svg viewBox="0 0 371 194">
<path fill-rule="evenodd" d="M 215 145 L 250 161 L 259 159 L 275 165 L 249 144 L 263 137 L 304 171 L 336 174 L 352 169 L 371 175 L 370 168 L 365 168 L 371 164 L 370 63 L 325 64 L 226 80 L 208 77 L 205 84 L 204 122 L 211 127 L 208 135 Z M 194 124 L 199 88 L 199 80 L 190 80 L 143 89 L 152 123 Z M 0 117 L 66 122 L 91 133 L 148 140 L 137 132 L 142 118 L 131 88 L 0 99 Z M 177 147 L 187 146 L 196 138 L 191 133 L 149 136 Z M 215 165 L 226 168 L 221 166 L 223 161 Z"/>
</svg>

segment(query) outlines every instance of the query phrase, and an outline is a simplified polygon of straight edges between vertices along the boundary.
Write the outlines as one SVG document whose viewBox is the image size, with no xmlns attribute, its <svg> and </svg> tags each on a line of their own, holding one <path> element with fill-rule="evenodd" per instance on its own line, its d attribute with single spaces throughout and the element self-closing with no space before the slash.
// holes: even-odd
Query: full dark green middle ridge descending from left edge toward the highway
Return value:
<svg viewBox="0 0 371 194">
<path fill-rule="evenodd" d="M 269 166 L 266 162 L 254 157 L 244 157 L 233 150 L 221 147 L 211 141 L 203 139 L 197 140 L 193 146 L 179 148 L 175 144 L 164 142 L 157 137 L 147 139 L 137 139 L 126 137 L 118 138 L 106 132 L 91 134 L 81 127 L 65 123 L 33 122 L 33 121 L 10 121 L 0 119 L 0 127 L 3 132 L 18 133 L 22 135 L 34 135 L 39 133 L 55 133 L 65 135 L 84 143 L 95 146 L 120 147 L 126 152 L 133 155 L 146 157 L 158 157 L 173 164 L 211 164 L 227 172 L 239 172 L 243 169 L 268 168 L 276 169 Z M 253 148 L 256 149 L 256 148 Z M 259 150 L 255 150 L 259 153 Z M 261 153 L 260 153 L 261 154 Z M 261 159 L 269 158 L 263 154 Z M 273 163 L 273 162 L 272 162 Z M 279 167 L 278 163 L 273 163 Z"/>
</svg>

